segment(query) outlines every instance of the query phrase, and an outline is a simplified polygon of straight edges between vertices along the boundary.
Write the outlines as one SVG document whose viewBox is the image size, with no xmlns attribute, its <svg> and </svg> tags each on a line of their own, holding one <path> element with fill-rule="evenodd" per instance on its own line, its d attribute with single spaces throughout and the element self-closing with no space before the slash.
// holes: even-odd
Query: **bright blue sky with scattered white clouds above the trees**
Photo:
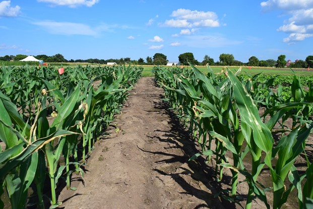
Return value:
<svg viewBox="0 0 313 209">
<path fill-rule="evenodd" d="M 313 55 L 313 0 L 0 0 L 0 56 L 248 62 Z"/>
</svg>

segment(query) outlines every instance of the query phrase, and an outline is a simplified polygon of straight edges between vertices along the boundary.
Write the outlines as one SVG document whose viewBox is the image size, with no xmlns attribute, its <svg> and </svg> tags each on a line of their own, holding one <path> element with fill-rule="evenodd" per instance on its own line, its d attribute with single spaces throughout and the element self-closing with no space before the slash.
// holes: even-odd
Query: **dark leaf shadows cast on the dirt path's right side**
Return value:
<svg viewBox="0 0 313 209">
<path fill-rule="evenodd" d="M 160 95 L 162 98 L 162 96 Z M 154 102 L 155 109 L 163 110 L 160 112 L 160 114 L 165 114 L 169 119 L 169 126 L 171 127 L 170 131 L 165 132 L 163 134 L 162 138 L 155 136 L 151 138 L 156 138 L 159 141 L 167 142 L 172 144 L 170 148 L 179 148 L 183 151 L 184 155 L 179 156 L 175 154 L 169 154 L 166 152 L 160 152 L 160 151 L 147 151 L 143 150 L 145 152 L 150 152 L 154 154 L 163 154 L 166 156 L 172 156 L 172 158 L 159 161 L 156 163 L 166 163 L 171 165 L 176 165 L 177 163 L 179 165 L 187 163 L 187 168 L 180 168 L 179 172 L 177 172 L 177 167 L 174 166 L 174 168 L 166 171 L 161 171 L 159 169 L 154 169 L 161 175 L 171 176 L 171 178 L 176 181 L 186 192 L 186 194 L 193 195 L 199 199 L 202 199 L 206 201 L 207 204 L 205 205 L 198 205 L 196 208 L 216 208 L 217 205 L 223 205 L 225 208 L 235 208 L 235 203 L 231 203 L 223 198 L 215 197 L 218 192 L 222 191 L 222 184 L 227 184 L 226 182 L 231 182 L 231 177 L 224 175 L 223 180 L 221 182 L 217 182 L 215 180 L 215 169 L 209 167 L 206 164 L 206 160 L 202 157 L 199 157 L 198 159 L 194 161 L 189 161 L 189 158 L 193 156 L 195 153 L 199 152 L 199 147 L 197 144 L 193 141 L 190 133 L 185 130 L 183 125 L 180 123 L 177 117 L 175 117 L 175 114 L 171 112 L 171 110 L 168 107 L 168 104 L 165 101 L 161 102 Z M 155 130 L 164 133 L 164 131 L 161 130 Z M 164 139 L 166 138 L 166 139 Z M 179 166 L 178 166 L 179 167 Z M 184 175 L 190 175 L 194 182 L 202 182 L 203 185 L 205 185 L 208 190 L 212 191 L 212 193 L 209 193 L 205 190 L 195 188 L 192 186 L 191 182 L 187 182 L 183 176 Z M 245 197 L 243 197 L 245 198 Z M 219 202 L 219 203 L 217 203 Z"/>
</svg>

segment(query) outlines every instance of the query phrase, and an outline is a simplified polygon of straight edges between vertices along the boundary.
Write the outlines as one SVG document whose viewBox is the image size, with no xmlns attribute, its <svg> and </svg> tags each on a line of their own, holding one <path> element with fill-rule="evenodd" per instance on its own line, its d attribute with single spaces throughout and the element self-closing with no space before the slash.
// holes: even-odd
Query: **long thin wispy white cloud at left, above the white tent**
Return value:
<svg viewBox="0 0 313 209">
<path fill-rule="evenodd" d="M 39 21 L 33 24 L 39 25 L 52 34 L 60 35 L 97 35 L 97 32 L 88 25 L 71 22 Z"/>
</svg>

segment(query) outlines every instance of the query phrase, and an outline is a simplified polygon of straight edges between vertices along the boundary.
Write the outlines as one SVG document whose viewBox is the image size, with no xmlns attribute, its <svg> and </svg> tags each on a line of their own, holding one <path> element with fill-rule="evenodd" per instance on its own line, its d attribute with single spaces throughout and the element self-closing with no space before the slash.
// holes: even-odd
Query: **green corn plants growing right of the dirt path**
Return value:
<svg viewBox="0 0 313 209">
<path fill-rule="evenodd" d="M 222 181 L 224 169 L 230 169 L 231 188 L 219 195 L 245 208 L 251 208 L 255 198 L 267 208 L 280 208 L 294 189 L 299 208 L 312 208 L 313 165 L 305 143 L 313 128 L 311 83 L 304 90 L 294 74 L 285 93 L 285 87 L 273 89 L 275 77 L 260 82 L 259 75 L 243 79 L 247 76 L 240 76 L 241 69 L 224 68 L 218 77 L 210 67 L 208 71 L 204 75 L 192 65 L 153 69 L 164 100 L 201 146 L 191 160 L 214 159 L 217 181 Z M 304 158 L 304 172 L 295 167 L 297 158 Z M 271 185 L 260 183 L 266 170 Z M 239 175 L 248 185 L 246 194 L 237 192 Z"/>
</svg>

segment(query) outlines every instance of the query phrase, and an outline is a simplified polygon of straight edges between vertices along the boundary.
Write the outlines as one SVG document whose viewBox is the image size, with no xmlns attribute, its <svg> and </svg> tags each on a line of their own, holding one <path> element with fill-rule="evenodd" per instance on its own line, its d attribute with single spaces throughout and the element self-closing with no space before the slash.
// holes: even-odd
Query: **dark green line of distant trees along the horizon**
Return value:
<svg viewBox="0 0 313 209">
<path fill-rule="evenodd" d="M 0 57 L 2 61 L 20 61 L 26 58 L 27 55 L 6 55 L 4 57 Z M 134 64 L 134 65 L 166 65 L 168 63 L 167 56 L 156 53 L 153 57 L 147 57 L 146 59 L 139 58 L 138 60 L 131 60 L 131 58 L 120 58 L 120 59 L 87 59 L 87 60 L 67 60 L 61 54 L 56 54 L 53 56 L 47 55 L 37 55 L 34 56 L 38 60 L 43 60 L 47 63 L 92 63 L 92 64 L 107 64 L 107 63 L 116 63 L 117 65 L 122 64 Z M 219 56 L 219 61 L 214 62 L 213 58 L 210 58 L 208 55 L 205 55 L 202 62 L 199 62 L 195 59 L 193 53 L 183 53 L 178 56 L 178 61 L 180 65 L 188 65 L 188 63 L 192 63 L 193 65 L 211 65 L 211 66 L 254 66 L 254 67 L 276 67 L 283 68 L 286 66 L 286 56 L 280 55 L 277 60 L 259 60 L 257 57 L 252 56 L 249 58 L 247 63 L 243 63 L 235 60 L 232 54 L 221 54 Z M 294 62 L 290 62 L 289 67 L 291 68 L 313 68 L 313 56 L 307 56 L 306 59 L 296 60 Z"/>
</svg>

